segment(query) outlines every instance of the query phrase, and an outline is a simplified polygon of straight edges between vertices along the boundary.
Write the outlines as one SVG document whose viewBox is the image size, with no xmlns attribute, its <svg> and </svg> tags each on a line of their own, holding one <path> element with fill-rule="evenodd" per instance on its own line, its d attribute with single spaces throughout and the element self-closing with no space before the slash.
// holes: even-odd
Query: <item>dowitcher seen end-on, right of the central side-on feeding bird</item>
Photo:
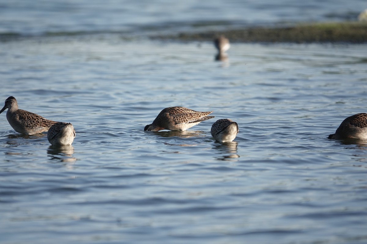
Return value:
<svg viewBox="0 0 367 244">
<path fill-rule="evenodd" d="M 238 134 L 238 125 L 230 119 L 220 119 L 211 126 L 210 134 L 218 142 L 232 142 Z"/>
</svg>

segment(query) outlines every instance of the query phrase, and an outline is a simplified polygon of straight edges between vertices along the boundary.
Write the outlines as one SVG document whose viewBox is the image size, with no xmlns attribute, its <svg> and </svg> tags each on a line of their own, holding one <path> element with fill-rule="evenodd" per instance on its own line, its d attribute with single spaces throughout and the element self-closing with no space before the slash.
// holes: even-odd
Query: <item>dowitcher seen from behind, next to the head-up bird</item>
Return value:
<svg viewBox="0 0 367 244">
<path fill-rule="evenodd" d="M 47 139 L 52 145 L 71 145 L 75 138 L 75 130 L 72 124 L 57 122 L 47 132 Z"/>
</svg>

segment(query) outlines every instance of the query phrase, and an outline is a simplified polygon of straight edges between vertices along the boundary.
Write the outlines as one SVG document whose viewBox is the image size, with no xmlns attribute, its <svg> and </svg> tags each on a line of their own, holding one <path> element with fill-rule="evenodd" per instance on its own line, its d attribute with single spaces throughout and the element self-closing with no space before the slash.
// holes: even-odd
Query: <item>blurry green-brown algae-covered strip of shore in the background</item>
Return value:
<svg viewBox="0 0 367 244">
<path fill-rule="evenodd" d="M 367 42 L 367 22 L 298 23 L 286 27 L 244 27 L 152 36 L 153 39 L 211 41 L 225 35 L 232 42 Z"/>
</svg>

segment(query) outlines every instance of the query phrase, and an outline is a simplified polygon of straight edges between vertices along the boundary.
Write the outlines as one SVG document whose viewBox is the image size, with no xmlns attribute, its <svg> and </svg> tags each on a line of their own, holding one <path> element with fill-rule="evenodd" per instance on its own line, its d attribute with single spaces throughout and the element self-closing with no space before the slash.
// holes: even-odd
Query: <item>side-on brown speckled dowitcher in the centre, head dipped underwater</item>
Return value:
<svg viewBox="0 0 367 244">
<path fill-rule="evenodd" d="M 145 126 L 145 131 L 160 131 L 169 129 L 170 131 L 186 131 L 186 129 L 199 124 L 201 121 L 214 118 L 207 116 L 210 112 L 197 112 L 184 107 L 170 107 L 163 109 L 152 124 Z"/>
</svg>

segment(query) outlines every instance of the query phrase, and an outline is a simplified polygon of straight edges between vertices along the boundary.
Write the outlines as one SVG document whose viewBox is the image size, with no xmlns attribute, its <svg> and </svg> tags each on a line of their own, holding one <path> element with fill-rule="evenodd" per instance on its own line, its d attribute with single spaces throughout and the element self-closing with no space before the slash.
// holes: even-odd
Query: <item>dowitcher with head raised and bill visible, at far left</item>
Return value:
<svg viewBox="0 0 367 244">
<path fill-rule="evenodd" d="M 50 128 L 51 125 L 57 123 L 56 121 L 47 120 L 35 113 L 18 109 L 18 103 L 14 97 L 8 97 L 5 100 L 4 108 L 0 110 L 0 113 L 5 109 L 8 109 L 6 112 L 6 118 L 10 126 L 21 134 L 39 134 L 44 131 L 48 131 L 48 128 Z"/>
</svg>

